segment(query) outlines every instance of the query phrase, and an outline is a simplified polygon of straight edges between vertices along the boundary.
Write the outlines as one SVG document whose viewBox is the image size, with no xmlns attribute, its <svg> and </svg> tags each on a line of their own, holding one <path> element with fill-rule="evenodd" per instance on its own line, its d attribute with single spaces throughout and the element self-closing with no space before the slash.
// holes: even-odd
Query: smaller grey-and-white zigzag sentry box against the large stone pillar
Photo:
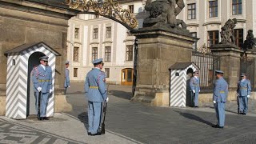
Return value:
<svg viewBox="0 0 256 144">
<path fill-rule="evenodd" d="M 198 70 L 193 62 L 177 62 L 170 66 L 170 106 L 186 107 L 186 71 Z"/>
</svg>

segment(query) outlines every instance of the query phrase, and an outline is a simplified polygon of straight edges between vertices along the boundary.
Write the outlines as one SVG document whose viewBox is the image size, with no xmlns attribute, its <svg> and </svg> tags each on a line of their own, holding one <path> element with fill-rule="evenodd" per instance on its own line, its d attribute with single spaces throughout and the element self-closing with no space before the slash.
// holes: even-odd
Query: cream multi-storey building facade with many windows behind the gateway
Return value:
<svg viewBox="0 0 256 144">
<path fill-rule="evenodd" d="M 143 18 L 146 0 L 118 1 L 138 19 L 138 28 Z M 247 30 L 256 35 L 256 1 L 254 0 L 184 0 L 185 7 L 178 19 L 186 22 L 187 29 L 194 37 L 193 50 L 202 46 L 210 47 L 221 40 L 220 31 L 229 18 L 236 18 L 235 43 L 241 47 Z M 84 82 L 87 72 L 93 67 L 95 58 L 104 58 L 107 82 L 131 84 L 133 73 L 134 37 L 129 31 L 108 18 L 90 14 L 79 14 L 71 18 L 68 32 L 68 53 L 70 78 L 73 82 Z M 132 52 L 131 52 L 132 51 Z"/>
</svg>

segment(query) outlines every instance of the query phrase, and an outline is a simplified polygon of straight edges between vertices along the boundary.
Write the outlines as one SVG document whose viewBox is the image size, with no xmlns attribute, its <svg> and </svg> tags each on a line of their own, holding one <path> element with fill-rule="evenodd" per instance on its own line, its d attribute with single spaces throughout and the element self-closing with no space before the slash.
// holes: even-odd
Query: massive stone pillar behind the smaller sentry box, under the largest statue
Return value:
<svg viewBox="0 0 256 144">
<path fill-rule="evenodd" d="M 189 33 L 142 28 L 132 32 L 138 38 L 137 78 L 134 102 L 154 106 L 170 105 L 170 71 L 175 62 L 191 62 Z"/>
</svg>

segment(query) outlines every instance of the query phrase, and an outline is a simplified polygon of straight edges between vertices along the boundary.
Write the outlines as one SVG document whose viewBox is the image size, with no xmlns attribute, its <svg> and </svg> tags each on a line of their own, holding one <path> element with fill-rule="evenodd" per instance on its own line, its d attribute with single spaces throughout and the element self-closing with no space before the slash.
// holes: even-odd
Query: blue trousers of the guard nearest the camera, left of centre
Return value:
<svg viewBox="0 0 256 144">
<path fill-rule="evenodd" d="M 102 116 L 102 102 L 90 102 L 88 101 L 88 132 L 96 134 L 100 126 Z"/>
</svg>

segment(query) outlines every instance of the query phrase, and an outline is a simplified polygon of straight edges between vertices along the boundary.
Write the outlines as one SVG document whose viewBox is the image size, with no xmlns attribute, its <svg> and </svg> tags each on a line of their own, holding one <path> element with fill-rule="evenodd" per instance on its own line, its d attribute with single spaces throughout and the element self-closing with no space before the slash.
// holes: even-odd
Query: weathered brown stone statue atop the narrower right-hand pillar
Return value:
<svg viewBox="0 0 256 144">
<path fill-rule="evenodd" d="M 237 24 L 237 19 L 229 19 L 224 26 L 222 26 L 221 43 L 222 44 L 234 44 L 234 27 Z"/>
</svg>

